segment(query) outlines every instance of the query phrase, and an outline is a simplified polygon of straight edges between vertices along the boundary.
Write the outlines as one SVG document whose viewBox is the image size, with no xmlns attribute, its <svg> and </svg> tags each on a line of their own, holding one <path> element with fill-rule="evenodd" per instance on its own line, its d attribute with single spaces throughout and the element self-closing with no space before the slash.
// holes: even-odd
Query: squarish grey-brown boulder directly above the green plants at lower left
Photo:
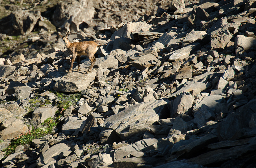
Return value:
<svg viewBox="0 0 256 168">
<path fill-rule="evenodd" d="M 32 114 L 32 119 L 37 125 L 43 123 L 47 118 L 53 118 L 57 107 L 50 108 L 47 106 L 38 107 Z"/>
</svg>

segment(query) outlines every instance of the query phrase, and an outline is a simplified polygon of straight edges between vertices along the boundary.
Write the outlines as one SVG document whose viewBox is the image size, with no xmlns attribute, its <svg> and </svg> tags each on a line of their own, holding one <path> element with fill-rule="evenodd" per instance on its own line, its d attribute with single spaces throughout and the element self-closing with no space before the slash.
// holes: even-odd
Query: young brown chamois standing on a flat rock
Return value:
<svg viewBox="0 0 256 168">
<path fill-rule="evenodd" d="M 79 70 L 80 70 L 80 56 L 86 55 L 86 56 L 88 56 L 88 58 L 91 61 L 91 66 L 88 69 L 88 71 L 86 72 L 86 73 L 89 73 L 92 70 L 92 67 L 96 62 L 94 54 L 97 52 L 98 48 L 102 45 L 98 45 L 94 41 L 83 41 L 83 42 L 73 42 L 73 43 L 71 43 L 68 40 L 68 33 L 69 32 L 66 32 L 65 36 L 58 33 L 59 36 L 62 37 L 62 40 L 65 42 L 69 54 L 72 55 L 71 67 L 70 67 L 68 72 L 72 71 L 73 63 L 74 63 L 76 57 L 77 57 L 77 64 L 78 64 L 77 71 L 79 72 Z"/>
</svg>

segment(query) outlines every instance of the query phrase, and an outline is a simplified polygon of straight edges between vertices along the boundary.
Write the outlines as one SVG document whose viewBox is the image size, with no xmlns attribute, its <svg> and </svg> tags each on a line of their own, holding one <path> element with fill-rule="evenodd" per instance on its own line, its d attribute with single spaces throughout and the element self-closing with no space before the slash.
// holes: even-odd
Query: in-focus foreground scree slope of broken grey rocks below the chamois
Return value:
<svg viewBox="0 0 256 168">
<path fill-rule="evenodd" d="M 255 7 L 172 1 L 102 28 L 89 74 L 61 46 L 1 58 L 2 167 L 255 167 Z"/>
</svg>

